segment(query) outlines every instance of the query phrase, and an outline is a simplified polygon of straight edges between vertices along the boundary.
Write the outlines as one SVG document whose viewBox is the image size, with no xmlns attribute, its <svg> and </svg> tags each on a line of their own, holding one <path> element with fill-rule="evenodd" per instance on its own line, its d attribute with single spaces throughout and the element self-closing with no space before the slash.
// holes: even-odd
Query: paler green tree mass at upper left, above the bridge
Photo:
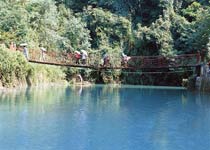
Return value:
<svg viewBox="0 0 210 150">
<path fill-rule="evenodd" d="M 85 23 L 54 0 L 0 2 L 0 39 L 30 48 L 39 45 L 48 50 L 89 49 L 89 31 Z"/>
</svg>

